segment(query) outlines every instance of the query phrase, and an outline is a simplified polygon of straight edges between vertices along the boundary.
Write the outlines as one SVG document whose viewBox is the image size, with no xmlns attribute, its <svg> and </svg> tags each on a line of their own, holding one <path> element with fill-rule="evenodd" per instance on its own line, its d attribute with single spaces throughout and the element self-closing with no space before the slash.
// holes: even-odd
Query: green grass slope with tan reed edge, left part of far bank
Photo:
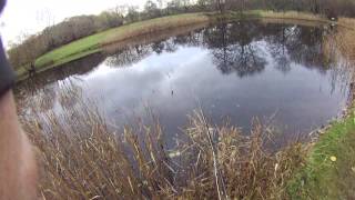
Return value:
<svg viewBox="0 0 355 200">
<path fill-rule="evenodd" d="M 207 20 L 207 17 L 205 17 L 203 13 L 187 13 L 156 18 L 113 28 L 54 49 L 38 58 L 34 62 L 34 66 L 38 72 L 44 71 L 47 69 L 54 68 L 60 64 L 99 52 L 102 50 L 101 48 L 104 44 L 122 41 L 145 33 L 166 30 L 170 28 L 205 22 Z M 27 72 L 28 71 L 24 67 L 17 70 L 19 79 L 26 79 Z"/>
</svg>

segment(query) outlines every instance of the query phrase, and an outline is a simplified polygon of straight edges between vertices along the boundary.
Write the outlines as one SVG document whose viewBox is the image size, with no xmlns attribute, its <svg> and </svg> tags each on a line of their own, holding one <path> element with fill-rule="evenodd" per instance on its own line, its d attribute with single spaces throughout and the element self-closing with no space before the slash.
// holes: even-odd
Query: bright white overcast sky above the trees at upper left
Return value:
<svg viewBox="0 0 355 200">
<path fill-rule="evenodd" d="M 36 33 L 49 23 L 79 14 L 98 14 L 119 4 L 140 6 L 145 0 L 8 0 L 0 17 L 4 46 L 22 33 Z"/>
</svg>

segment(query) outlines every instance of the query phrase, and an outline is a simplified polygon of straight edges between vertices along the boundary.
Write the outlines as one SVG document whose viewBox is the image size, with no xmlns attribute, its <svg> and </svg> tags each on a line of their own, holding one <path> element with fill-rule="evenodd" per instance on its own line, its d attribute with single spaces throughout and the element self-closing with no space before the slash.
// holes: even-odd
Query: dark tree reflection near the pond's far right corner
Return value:
<svg viewBox="0 0 355 200">
<path fill-rule="evenodd" d="M 332 62 L 324 61 L 322 28 L 292 24 L 267 24 L 264 28 L 267 50 L 275 60 L 275 68 L 286 73 L 291 63 L 325 72 Z"/>
</svg>

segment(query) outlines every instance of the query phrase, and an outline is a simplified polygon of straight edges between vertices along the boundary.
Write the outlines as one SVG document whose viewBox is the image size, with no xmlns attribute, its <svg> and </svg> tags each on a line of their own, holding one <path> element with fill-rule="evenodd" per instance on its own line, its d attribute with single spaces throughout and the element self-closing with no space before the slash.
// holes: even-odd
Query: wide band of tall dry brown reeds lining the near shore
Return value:
<svg viewBox="0 0 355 200">
<path fill-rule="evenodd" d="M 63 98 L 68 98 L 68 92 Z M 77 97 L 77 96 L 75 96 Z M 69 97 L 72 98 L 72 97 Z M 65 101 L 61 101 L 65 102 Z M 38 148 L 44 199 L 283 199 L 286 182 L 304 162 L 304 148 L 273 152 L 254 120 L 245 136 L 236 127 L 211 126 L 202 111 L 175 149 L 164 146 L 159 120 L 118 129 L 89 101 L 62 112 L 22 117 Z"/>
</svg>

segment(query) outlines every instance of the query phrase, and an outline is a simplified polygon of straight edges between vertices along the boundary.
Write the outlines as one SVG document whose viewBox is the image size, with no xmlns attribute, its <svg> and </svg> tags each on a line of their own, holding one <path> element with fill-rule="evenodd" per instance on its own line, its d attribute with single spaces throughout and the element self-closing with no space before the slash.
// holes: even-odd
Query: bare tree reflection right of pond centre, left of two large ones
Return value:
<svg viewBox="0 0 355 200">
<path fill-rule="evenodd" d="M 205 31 L 205 42 L 212 49 L 213 62 L 222 73 L 236 72 L 240 77 L 264 70 L 266 60 L 254 42 L 256 23 L 220 23 Z M 245 31 L 248 30 L 248 31 Z"/>
</svg>

